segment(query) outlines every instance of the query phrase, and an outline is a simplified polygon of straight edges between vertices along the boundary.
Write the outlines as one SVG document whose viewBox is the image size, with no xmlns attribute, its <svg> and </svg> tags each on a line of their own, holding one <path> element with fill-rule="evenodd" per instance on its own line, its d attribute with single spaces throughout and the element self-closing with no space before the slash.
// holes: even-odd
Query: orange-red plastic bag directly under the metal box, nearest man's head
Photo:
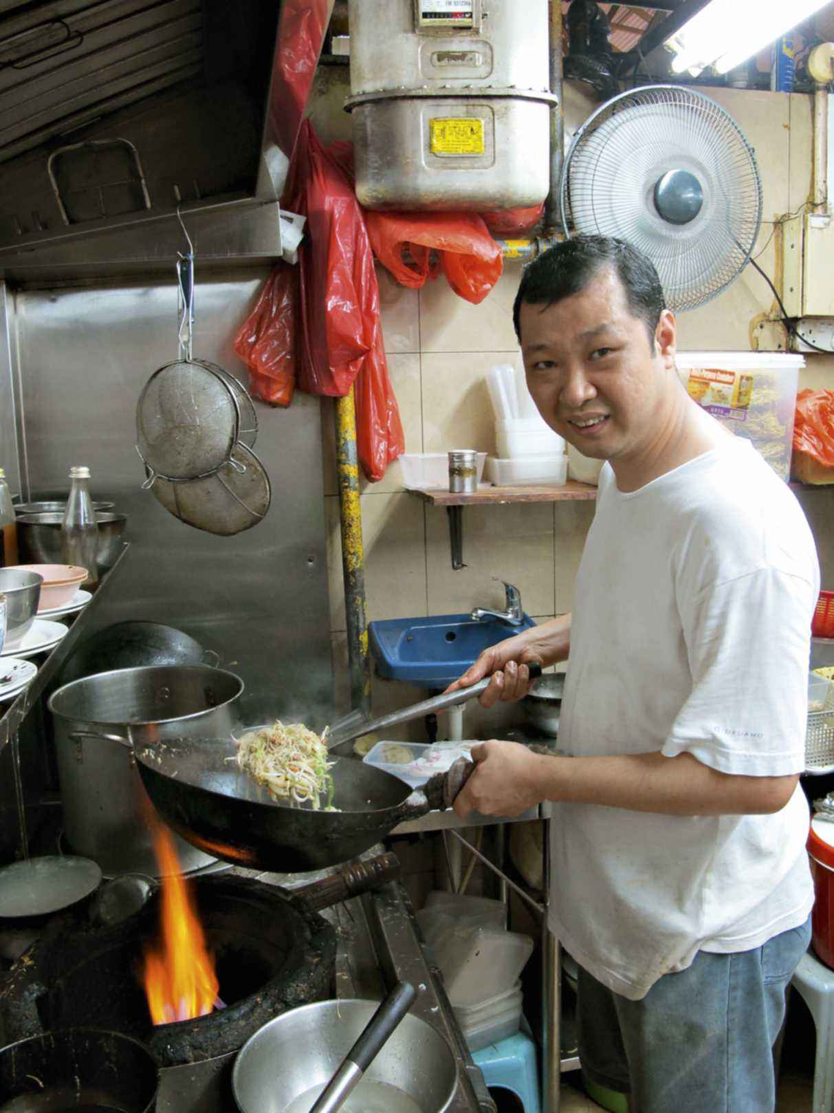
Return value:
<svg viewBox="0 0 834 1113">
<path fill-rule="evenodd" d="M 417 289 L 441 268 L 454 292 L 477 305 L 502 276 L 502 249 L 475 214 L 366 209 L 365 223 L 376 257 L 403 286 Z"/>
</svg>

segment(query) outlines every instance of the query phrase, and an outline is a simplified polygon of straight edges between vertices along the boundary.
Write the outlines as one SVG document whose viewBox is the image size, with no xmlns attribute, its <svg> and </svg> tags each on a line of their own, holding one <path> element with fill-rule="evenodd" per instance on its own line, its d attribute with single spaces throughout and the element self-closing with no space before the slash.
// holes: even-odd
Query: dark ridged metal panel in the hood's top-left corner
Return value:
<svg viewBox="0 0 834 1113">
<path fill-rule="evenodd" d="M 201 0 L 0 0 L 0 162 L 205 71 Z"/>
</svg>

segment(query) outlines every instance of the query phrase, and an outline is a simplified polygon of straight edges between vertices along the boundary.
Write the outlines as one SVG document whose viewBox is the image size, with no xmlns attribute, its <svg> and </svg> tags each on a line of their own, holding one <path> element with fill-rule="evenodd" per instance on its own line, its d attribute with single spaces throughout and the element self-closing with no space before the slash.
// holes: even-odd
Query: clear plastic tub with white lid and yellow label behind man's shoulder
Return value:
<svg viewBox="0 0 834 1113">
<path fill-rule="evenodd" d="M 762 453 L 776 474 L 791 473 L 801 355 L 780 352 L 678 352 L 691 397 Z"/>
</svg>

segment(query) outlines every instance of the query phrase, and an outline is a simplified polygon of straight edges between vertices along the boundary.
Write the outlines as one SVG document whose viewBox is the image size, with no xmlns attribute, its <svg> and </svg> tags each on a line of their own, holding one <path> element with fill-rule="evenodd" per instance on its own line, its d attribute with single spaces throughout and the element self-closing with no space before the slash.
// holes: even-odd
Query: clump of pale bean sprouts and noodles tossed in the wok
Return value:
<svg viewBox="0 0 834 1113">
<path fill-rule="evenodd" d="M 238 741 L 237 761 L 275 800 L 309 804 L 320 807 L 320 796 L 327 792 L 328 811 L 332 807 L 334 784 L 324 739 L 302 722 L 282 723 L 250 730 Z"/>
</svg>

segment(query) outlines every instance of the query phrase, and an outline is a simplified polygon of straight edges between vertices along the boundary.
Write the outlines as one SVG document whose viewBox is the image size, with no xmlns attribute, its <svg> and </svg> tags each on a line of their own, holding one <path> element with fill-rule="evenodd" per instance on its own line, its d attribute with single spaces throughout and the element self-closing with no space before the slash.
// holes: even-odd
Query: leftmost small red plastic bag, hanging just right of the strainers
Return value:
<svg viewBox="0 0 834 1113">
<path fill-rule="evenodd" d="M 296 268 L 279 263 L 235 337 L 235 351 L 251 375 L 251 393 L 270 405 L 288 406 L 292 401 L 297 302 Z"/>
</svg>

